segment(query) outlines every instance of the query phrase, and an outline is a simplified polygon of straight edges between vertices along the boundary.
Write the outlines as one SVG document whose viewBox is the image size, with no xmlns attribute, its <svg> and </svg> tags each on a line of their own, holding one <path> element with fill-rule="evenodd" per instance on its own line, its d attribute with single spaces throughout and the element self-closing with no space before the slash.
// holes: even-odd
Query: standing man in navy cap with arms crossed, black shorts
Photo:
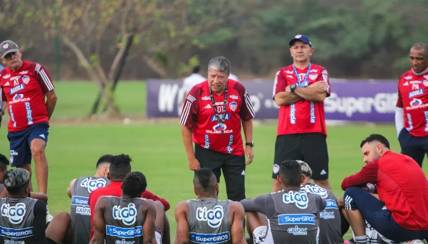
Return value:
<svg viewBox="0 0 428 244">
<path fill-rule="evenodd" d="M 312 169 L 315 184 L 331 190 L 324 99 L 330 96 L 327 70 L 310 63 L 312 43 L 305 35 L 289 42 L 293 64 L 275 76 L 275 103 L 280 106 L 272 192 L 281 191 L 277 177 L 284 160 L 302 160 Z"/>
</svg>

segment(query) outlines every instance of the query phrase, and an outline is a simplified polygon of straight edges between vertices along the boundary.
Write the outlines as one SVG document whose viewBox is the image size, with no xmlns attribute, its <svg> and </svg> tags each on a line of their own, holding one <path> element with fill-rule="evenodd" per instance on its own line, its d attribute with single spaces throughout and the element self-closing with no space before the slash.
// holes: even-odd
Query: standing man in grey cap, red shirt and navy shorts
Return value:
<svg viewBox="0 0 428 244">
<path fill-rule="evenodd" d="M 0 71 L 0 99 L 3 101 L 0 116 L 7 108 L 11 166 L 26 169 L 31 178 L 31 158 L 34 157 L 37 189 L 46 194 L 45 147 L 49 119 L 58 99 L 55 87 L 42 65 L 21 59 L 21 49 L 13 41 L 0 44 L 0 56 L 2 63 L 7 65 Z"/>
</svg>

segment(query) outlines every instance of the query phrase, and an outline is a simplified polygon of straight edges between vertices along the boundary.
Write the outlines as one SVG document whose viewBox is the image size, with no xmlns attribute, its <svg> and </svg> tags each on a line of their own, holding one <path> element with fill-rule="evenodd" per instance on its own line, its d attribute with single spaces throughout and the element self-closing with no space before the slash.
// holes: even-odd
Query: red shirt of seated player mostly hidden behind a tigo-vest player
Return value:
<svg viewBox="0 0 428 244">
<path fill-rule="evenodd" d="M 94 224 L 95 204 L 97 203 L 98 198 L 102 196 L 120 197 L 122 195 L 121 186 L 122 186 L 122 181 L 112 181 L 110 185 L 103 188 L 98 188 L 97 190 L 91 192 L 91 194 L 89 195 L 88 204 L 91 208 L 91 237 L 89 238 L 89 241 L 92 239 L 92 236 L 94 235 L 94 229 L 92 226 Z M 170 204 L 167 202 L 167 200 L 160 198 L 147 190 L 143 192 L 143 194 L 141 194 L 141 197 L 147 198 L 153 201 L 161 201 L 162 204 L 164 204 L 165 211 L 167 211 L 171 207 Z"/>
</svg>

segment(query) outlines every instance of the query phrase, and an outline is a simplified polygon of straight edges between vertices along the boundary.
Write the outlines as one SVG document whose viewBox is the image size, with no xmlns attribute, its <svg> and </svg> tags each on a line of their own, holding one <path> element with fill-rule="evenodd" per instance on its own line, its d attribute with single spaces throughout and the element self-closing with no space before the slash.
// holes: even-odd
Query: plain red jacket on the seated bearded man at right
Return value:
<svg viewBox="0 0 428 244">
<path fill-rule="evenodd" d="M 379 199 L 395 222 L 410 230 L 428 230 L 428 181 L 409 156 L 387 151 L 360 172 L 343 179 L 342 190 L 374 182 Z"/>
</svg>

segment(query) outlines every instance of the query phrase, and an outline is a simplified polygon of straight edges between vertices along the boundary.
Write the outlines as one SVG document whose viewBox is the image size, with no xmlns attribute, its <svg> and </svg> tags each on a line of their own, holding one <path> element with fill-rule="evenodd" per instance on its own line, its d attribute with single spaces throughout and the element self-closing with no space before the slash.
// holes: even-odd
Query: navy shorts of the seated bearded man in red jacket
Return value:
<svg viewBox="0 0 428 244">
<path fill-rule="evenodd" d="M 404 242 L 428 238 L 428 231 L 409 230 L 398 225 L 385 203 L 359 187 L 346 189 L 343 196 L 346 210 L 359 210 L 363 218 L 386 238 Z"/>
</svg>

